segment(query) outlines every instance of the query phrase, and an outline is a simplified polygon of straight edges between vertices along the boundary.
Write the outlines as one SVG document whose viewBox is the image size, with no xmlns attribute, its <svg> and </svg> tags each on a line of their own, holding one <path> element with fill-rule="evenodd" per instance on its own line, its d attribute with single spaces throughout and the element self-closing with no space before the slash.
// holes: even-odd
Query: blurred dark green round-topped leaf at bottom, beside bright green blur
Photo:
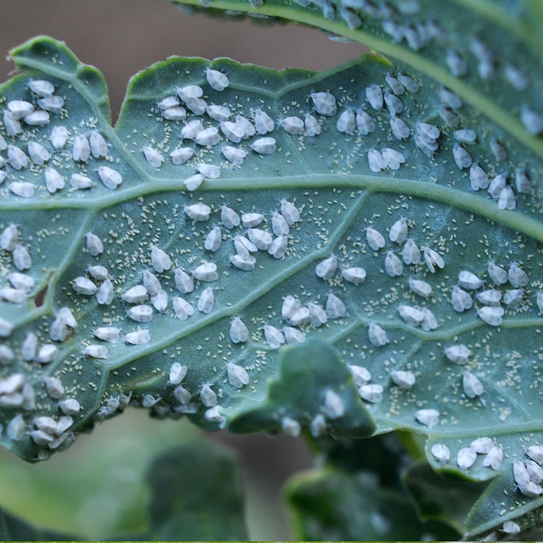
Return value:
<svg viewBox="0 0 543 543">
<path fill-rule="evenodd" d="M 235 459 L 210 445 L 177 447 L 151 464 L 150 539 L 247 539 Z"/>
</svg>

